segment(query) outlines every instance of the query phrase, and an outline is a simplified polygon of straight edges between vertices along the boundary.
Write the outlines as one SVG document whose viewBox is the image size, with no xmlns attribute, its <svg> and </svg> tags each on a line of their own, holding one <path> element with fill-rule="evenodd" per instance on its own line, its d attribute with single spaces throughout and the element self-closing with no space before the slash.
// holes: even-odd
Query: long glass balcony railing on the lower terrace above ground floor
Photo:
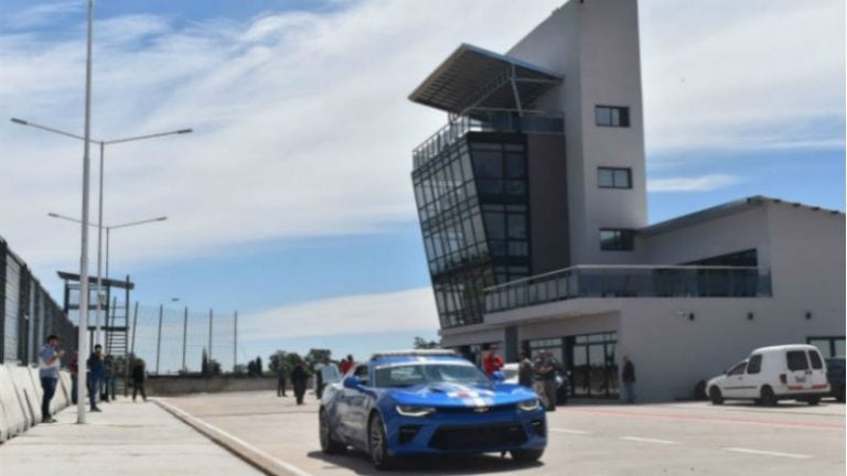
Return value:
<svg viewBox="0 0 847 476">
<path fill-rule="evenodd" d="M 577 298 L 760 298 L 771 275 L 749 267 L 578 266 L 485 290 L 485 312 Z"/>
</svg>

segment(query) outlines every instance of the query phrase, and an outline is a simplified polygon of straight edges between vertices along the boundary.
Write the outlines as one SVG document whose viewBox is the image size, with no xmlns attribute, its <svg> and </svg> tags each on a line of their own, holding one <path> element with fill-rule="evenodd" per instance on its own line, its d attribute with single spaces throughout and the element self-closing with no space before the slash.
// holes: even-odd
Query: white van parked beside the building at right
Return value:
<svg viewBox="0 0 847 476">
<path fill-rule="evenodd" d="M 782 345 L 753 350 L 722 376 L 709 380 L 706 391 L 714 404 L 740 399 L 763 405 L 774 405 L 780 400 L 814 405 L 829 392 L 829 383 L 817 347 Z"/>
</svg>

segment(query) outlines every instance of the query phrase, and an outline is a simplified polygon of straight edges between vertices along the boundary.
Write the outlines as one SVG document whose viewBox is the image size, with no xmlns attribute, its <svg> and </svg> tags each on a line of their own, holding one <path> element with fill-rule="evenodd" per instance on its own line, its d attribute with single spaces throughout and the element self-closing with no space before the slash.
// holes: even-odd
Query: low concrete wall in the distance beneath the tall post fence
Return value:
<svg viewBox="0 0 847 476">
<path fill-rule="evenodd" d="M 289 382 L 289 388 L 291 383 Z M 254 390 L 276 390 L 276 377 L 235 378 L 235 377 L 149 377 L 144 385 L 148 396 L 175 396 L 187 393 L 216 393 Z"/>
</svg>

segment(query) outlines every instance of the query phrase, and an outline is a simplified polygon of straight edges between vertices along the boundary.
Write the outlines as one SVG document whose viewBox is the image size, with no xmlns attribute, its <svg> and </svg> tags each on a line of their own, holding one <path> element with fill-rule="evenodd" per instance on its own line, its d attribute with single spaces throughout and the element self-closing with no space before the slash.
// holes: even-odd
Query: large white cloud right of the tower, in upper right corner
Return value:
<svg viewBox="0 0 847 476">
<path fill-rule="evenodd" d="M 841 0 L 641 2 L 650 152 L 844 147 Z"/>
</svg>

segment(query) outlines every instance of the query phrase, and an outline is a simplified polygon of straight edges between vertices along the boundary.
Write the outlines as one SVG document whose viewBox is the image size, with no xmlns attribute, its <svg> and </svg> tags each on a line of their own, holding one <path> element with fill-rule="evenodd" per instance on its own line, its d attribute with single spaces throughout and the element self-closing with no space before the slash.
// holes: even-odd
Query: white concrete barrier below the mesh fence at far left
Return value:
<svg viewBox="0 0 847 476">
<path fill-rule="evenodd" d="M 71 376 L 61 372 L 60 387 L 51 401 L 55 414 L 68 405 Z M 41 379 L 33 367 L 0 365 L 0 442 L 41 423 Z"/>
</svg>

